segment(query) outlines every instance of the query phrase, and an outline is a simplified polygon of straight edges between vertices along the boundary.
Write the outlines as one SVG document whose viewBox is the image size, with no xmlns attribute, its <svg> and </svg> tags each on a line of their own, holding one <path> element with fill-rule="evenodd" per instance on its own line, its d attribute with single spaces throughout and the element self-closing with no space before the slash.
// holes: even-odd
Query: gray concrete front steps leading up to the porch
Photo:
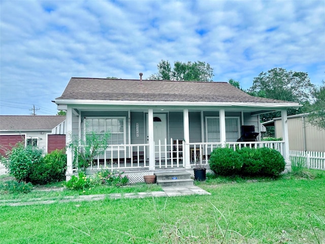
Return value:
<svg viewBox="0 0 325 244">
<path fill-rule="evenodd" d="M 193 186 L 190 173 L 186 171 L 156 172 L 157 184 L 161 187 Z"/>
</svg>

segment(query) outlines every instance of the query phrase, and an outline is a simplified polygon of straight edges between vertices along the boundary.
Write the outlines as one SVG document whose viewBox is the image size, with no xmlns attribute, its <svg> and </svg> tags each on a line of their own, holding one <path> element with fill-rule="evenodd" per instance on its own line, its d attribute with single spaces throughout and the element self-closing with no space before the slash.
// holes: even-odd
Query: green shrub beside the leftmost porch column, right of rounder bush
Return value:
<svg viewBox="0 0 325 244">
<path fill-rule="evenodd" d="M 33 184 L 62 181 L 66 176 L 67 155 L 65 150 L 54 150 L 44 157 L 42 164 L 35 164 L 30 175 Z"/>
</svg>

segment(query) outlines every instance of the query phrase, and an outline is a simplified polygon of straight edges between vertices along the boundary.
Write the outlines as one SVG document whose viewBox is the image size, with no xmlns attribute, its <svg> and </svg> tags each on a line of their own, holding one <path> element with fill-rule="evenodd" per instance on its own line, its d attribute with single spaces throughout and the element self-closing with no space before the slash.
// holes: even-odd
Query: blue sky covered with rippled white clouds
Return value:
<svg viewBox="0 0 325 244">
<path fill-rule="evenodd" d="M 144 78 L 161 59 L 209 63 L 243 88 L 272 68 L 325 75 L 325 2 L 0 2 L 0 114 L 56 114 L 71 77 Z"/>
</svg>

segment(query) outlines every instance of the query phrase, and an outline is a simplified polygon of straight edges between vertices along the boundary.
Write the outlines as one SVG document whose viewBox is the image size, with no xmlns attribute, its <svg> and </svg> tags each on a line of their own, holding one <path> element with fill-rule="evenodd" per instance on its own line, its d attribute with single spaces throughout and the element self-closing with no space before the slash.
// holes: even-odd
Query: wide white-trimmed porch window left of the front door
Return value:
<svg viewBox="0 0 325 244">
<path fill-rule="evenodd" d="M 126 144 L 125 117 L 85 118 L 85 133 L 94 131 L 99 137 L 110 133 L 109 145 Z"/>
</svg>

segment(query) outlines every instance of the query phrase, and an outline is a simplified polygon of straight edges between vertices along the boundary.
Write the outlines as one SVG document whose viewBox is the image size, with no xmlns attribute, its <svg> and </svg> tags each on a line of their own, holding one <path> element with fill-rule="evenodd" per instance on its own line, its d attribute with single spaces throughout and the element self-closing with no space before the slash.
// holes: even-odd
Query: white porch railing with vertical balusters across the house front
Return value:
<svg viewBox="0 0 325 244">
<path fill-rule="evenodd" d="M 277 149 L 283 155 L 284 141 L 251 141 L 251 142 L 227 142 L 229 148 L 242 147 L 270 147 Z M 208 164 L 209 156 L 213 149 L 221 147 L 220 142 L 195 142 L 185 143 L 183 140 L 165 141 L 160 140 L 154 144 L 154 167 L 155 168 L 184 168 L 185 146 L 189 148 L 189 162 L 193 167 L 196 163 Z M 83 146 L 80 146 L 80 149 Z M 89 169 L 149 169 L 149 144 L 124 144 L 109 145 L 105 154 L 97 156 Z M 77 170 L 77 162 L 73 170 Z"/>
</svg>

